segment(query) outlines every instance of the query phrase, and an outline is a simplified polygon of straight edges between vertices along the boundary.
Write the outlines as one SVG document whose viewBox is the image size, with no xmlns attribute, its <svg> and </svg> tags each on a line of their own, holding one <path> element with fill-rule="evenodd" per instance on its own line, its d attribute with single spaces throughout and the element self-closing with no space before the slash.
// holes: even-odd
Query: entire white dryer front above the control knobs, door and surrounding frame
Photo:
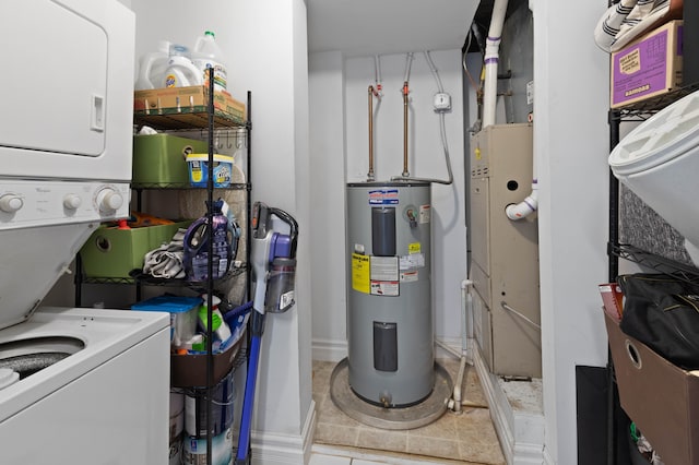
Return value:
<svg viewBox="0 0 699 465">
<path fill-rule="evenodd" d="M 133 12 L 117 0 L 25 0 L 5 10 L 2 176 L 130 181 Z"/>
</svg>

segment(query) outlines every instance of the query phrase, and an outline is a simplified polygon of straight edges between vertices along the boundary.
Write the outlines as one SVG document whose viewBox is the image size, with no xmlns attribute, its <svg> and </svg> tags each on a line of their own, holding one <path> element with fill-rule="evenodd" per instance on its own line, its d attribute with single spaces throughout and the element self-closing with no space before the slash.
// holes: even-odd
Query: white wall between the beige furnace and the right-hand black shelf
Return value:
<svg viewBox="0 0 699 465">
<path fill-rule="evenodd" d="M 592 35 L 606 2 L 531 3 L 545 452 L 562 465 L 577 463 L 576 366 L 607 359 L 608 56 Z"/>
</svg>

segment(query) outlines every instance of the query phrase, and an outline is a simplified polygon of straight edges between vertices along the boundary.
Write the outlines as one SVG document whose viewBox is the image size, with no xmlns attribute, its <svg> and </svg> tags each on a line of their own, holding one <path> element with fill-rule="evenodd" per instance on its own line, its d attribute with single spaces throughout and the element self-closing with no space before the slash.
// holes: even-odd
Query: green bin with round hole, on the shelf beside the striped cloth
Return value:
<svg viewBox="0 0 699 465">
<path fill-rule="evenodd" d="M 119 229 L 99 226 L 80 249 L 85 277 L 130 278 L 131 271 L 143 267 L 143 257 L 169 242 L 178 228 L 186 228 L 191 220 L 171 225 Z"/>
</svg>

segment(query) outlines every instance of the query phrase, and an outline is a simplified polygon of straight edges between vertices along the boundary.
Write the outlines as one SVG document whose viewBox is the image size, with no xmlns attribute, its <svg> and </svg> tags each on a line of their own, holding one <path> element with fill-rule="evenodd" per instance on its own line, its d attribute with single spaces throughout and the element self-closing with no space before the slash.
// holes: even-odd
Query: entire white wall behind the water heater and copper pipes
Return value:
<svg viewBox="0 0 699 465">
<path fill-rule="evenodd" d="M 460 337 L 461 281 L 466 276 L 461 51 L 430 51 L 452 111 L 446 114 L 447 146 L 454 181 L 433 184 L 433 297 L 435 333 Z M 313 355 L 339 360 L 346 356 L 344 186 L 362 182 L 368 172 L 368 94 L 375 83 L 374 57 L 342 59 L 340 52 L 310 59 L 311 199 L 313 245 L 324 250 L 313 260 Z M 403 170 L 403 97 L 405 55 L 380 57 L 383 97 L 375 99 L 375 175 L 388 181 Z M 447 179 L 439 117 L 433 109 L 438 86 L 422 51 L 410 72 L 408 171 L 422 178 Z M 322 201 L 321 201 L 322 200 Z"/>
</svg>

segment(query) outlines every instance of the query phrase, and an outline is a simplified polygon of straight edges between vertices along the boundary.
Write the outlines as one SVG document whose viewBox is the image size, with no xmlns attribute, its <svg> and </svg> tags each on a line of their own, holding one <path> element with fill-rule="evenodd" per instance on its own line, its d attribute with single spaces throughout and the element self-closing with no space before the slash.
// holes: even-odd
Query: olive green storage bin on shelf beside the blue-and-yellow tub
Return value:
<svg viewBox="0 0 699 465">
<path fill-rule="evenodd" d="M 171 134 L 133 136 L 131 181 L 135 187 L 189 186 L 187 155 L 208 152 L 209 144 Z"/>
</svg>

